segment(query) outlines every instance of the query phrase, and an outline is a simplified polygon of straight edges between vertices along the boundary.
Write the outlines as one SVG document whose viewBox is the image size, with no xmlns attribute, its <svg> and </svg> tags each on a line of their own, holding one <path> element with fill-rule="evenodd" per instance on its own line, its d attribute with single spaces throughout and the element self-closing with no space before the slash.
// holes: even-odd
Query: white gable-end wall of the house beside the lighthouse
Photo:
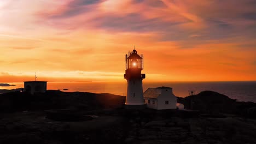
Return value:
<svg viewBox="0 0 256 144">
<path fill-rule="evenodd" d="M 158 110 L 176 109 L 177 98 L 172 93 L 172 88 L 162 88 L 158 96 Z M 168 105 L 165 104 L 168 101 Z"/>
</svg>

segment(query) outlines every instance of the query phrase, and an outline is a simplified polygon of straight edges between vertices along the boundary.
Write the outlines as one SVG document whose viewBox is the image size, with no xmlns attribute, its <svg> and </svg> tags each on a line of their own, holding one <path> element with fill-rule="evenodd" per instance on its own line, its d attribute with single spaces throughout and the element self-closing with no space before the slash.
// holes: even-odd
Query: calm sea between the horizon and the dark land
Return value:
<svg viewBox="0 0 256 144">
<path fill-rule="evenodd" d="M 11 87 L 0 87 L 0 89 L 13 89 L 24 87 L 22 82 L 9 83 L 16 85 Z M 216 91 L 227 95 L 229 98 L 238 101 L 253 101 L 256 103 L 256 81 L 250 82 L 143 82 L 143 91 L 149 87 L 172 87 L 174 95 L 187 97 L 190 90 L 195 93 L 201 91 Z M 48 89 L 60 89 L 66 92 L 92 92 L 92 93 L 112 93 L 126 95 L 126 81 L 124 82 L 48 82 Z"/>
</svg>

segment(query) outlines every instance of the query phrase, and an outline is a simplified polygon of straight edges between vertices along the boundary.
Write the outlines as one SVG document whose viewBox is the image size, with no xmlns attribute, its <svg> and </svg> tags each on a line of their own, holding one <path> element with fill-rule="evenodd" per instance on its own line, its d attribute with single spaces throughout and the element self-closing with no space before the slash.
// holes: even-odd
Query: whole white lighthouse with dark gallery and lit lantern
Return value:
<svg viewBox="0 0 256 144">
<path fill-rule="evenodd" d="M 134 49 L 128 55 L 125 55 L 126 70 L 124 78 L 127 80 L 127 94 L 125 105 L 144 106 L 142 80 L 145 74 L 141 74 L 143 70 L 143 55 L 138 54 Z"/>
</svg>

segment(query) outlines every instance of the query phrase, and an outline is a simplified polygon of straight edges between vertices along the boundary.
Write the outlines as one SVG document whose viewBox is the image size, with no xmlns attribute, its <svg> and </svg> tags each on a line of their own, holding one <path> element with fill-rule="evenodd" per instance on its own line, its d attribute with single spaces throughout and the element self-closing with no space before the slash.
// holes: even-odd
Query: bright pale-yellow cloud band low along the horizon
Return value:
<svg viewBox="0 0 256 144">
<path fill-rule="evenodd" d="M 21 82 L 34 80 L 35 73 L 27 71 L 11 71 L 8 75 L 1 75 L 4 82 Z M 165 77 L 163 74 L 147 74 L 147 77 Z M 48 82 L 60 81 L 125 81 L 124 73 L 106 71 L 39 71 L 37 80 Z"/>
</svg>

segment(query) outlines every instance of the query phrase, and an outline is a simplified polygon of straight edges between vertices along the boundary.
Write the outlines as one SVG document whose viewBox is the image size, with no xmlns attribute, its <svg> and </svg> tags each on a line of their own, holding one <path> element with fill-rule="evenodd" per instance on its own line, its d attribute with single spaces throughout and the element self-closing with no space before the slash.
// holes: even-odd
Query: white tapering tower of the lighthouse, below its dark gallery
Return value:
<svg viewBox="0 0 256 144">
<path fill-rule="evenodd" d="M 134 95 L 133 95 L 134 94 Z M 142 79 L 127 80 L 126 105 L 144 105 Z"/>
</svg>

